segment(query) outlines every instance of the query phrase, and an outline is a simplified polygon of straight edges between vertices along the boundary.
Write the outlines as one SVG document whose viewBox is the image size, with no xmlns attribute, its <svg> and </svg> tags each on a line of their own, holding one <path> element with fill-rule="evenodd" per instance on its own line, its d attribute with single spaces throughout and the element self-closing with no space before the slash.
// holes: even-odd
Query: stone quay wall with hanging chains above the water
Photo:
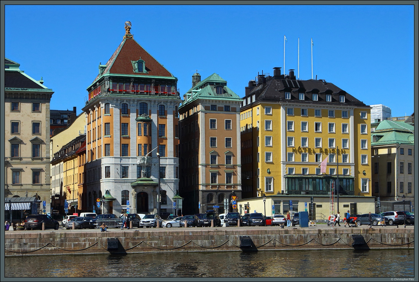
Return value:
<svg viewBox="0 0 419 282">
<path fill-rule="evenodd" d="M 249 240 L 250 239 L 250 240 Z M 11 231 L 5 256 L 129 254 L 198 251 L 414 249 L 407 228 L 153 228 Z"/>
</svg>

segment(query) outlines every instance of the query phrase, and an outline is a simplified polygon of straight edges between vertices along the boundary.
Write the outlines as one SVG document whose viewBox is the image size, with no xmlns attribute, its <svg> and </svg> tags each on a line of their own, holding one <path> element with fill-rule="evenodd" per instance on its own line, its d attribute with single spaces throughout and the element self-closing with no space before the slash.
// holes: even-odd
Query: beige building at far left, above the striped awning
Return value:
<svg viewBox="0 0 419 282">
<path fill-rule="evenodd" d="M 54 92 L 19 66 L 5 59 L 5 197 L 36 197 L 37 212 L 50 212 L 48 121 Z M 23 212 L 13 211 L 13 219 Z"/>
</svg>

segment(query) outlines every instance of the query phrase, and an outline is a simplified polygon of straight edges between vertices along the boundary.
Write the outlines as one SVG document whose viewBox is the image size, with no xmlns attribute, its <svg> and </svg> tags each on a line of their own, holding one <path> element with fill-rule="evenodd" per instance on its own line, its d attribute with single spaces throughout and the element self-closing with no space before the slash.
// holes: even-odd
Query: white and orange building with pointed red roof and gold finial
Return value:
<svg viewBox="0 0 419 282">
<path fill-rule="evenodd" d="M 94 209 L 98 197 L 105 203 L 99 213 L 119 215 L 127 208 L 129 213 L 172 213 L 179 183 L 178 79 L 134 40 L 130 29 L 126 22 L 124 39 L 87 87 L 87 205 Z"/>
</svg>

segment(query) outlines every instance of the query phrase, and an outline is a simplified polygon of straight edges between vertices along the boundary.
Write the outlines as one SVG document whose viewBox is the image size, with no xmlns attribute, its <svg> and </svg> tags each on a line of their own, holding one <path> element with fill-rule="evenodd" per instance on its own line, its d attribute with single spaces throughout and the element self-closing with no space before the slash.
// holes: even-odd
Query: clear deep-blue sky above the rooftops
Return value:
<svg viewBox="0 0 419 282">
<path fill-rule="evenodd" d="M 284 65 L 300 79 L 326 79 L 392 116 L 414 111 L 413 5 L 6 5 L 5 56 L 55 93 L 51 109 L 80 113 L 86 88 L 124 36 L 178 78 L 196 70 L 244 96 L 258 72 Z M 403 96 L 403 99 L 398 97 Z M 406 103 L 412 101 L 412 103 Z"/>
</svg>

